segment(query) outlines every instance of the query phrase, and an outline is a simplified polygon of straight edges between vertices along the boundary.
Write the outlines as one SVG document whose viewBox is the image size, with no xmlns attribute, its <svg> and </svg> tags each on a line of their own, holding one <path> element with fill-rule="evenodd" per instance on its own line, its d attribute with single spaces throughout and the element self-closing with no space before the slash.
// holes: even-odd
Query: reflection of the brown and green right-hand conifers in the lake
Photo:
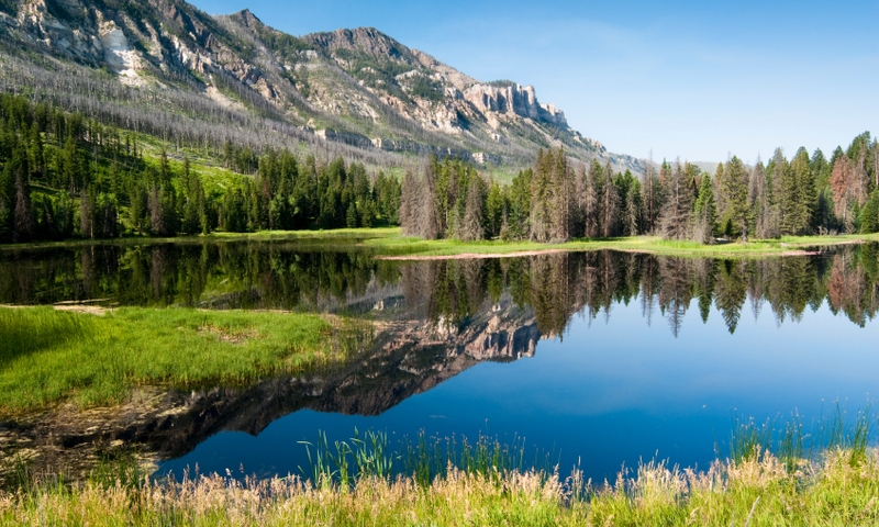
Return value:
<svg viewBox="0 0 879 527">
<path fill-rule="evenodd" d="M 778 324 L 799 322 L 826 299 L 858 326 L 879 310 L 877 245 L 769 259 L 669 258 L 599 251 L 530 258 L 439 260 L 402 267 L 411 313 L 467 324 L 508 292 L 534 312 L 543 335 L 565 334 L 572 316 L 608 321 L 614 304 L 639 302 L 648 325 L 657 316 L 678 336 L 693 304 L 703 323 L 714 305 L 734 334 L 746 302 L 755 316 L 768 304 Z M 696 302 L 693 302 L 696 301 Z"/>
</svg>

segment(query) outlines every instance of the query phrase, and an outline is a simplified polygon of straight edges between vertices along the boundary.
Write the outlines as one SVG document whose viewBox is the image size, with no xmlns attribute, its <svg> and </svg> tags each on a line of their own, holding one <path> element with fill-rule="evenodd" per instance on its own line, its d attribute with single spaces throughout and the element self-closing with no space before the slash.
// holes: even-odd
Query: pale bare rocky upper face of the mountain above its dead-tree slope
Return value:
<svg viewBox="0 0 879 527">
<path fill-rule="evenodd" d="M 637 159 L 571 130 L 533 87 L 479 82 L 375 29 L 294 37 L 247 10 L 211 16 L 182 0 L 5 1 L 12 8 L 0 9 L 0 53 L 21 58 L 24 44 L 103 68 L 141 90 L 182 91 L 223 109 L 269 114 L 315 141 L 513 166 L 530 164 L 537 148 L 565 146 L 574 157 L 639 169 Z M 160 111 L 168 120 L 191 112 Z"/>
</svg>

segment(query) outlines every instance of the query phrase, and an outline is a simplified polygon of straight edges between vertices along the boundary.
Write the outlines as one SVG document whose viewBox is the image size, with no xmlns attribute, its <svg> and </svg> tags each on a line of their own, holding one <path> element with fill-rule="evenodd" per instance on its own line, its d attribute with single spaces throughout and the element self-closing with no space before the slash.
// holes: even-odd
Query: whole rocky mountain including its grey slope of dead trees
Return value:
<svg viewBox="0 0 879 527">
<path fill-rule="evenodd" d="M 572 130 L 533 87 L 481 82 L 371 27 L 292 36 L 180 0 L 0 0 L 0 89 L 178 144 L 401 166 L 413 155 L 519 168 L 537 148 L 641 170 Z"/>
</svg>

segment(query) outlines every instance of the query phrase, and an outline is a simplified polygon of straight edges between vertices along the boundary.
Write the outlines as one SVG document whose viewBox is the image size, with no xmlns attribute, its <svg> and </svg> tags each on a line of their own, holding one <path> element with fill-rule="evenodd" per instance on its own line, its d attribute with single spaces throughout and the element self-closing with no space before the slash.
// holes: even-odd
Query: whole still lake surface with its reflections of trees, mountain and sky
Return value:
<svg viewBox="0 0 879 527">
<path fill-rule="evenodd" d="M 745 260 L 605 250 L 391 261 L 351 242 L 0 250 L 3 304 L 375 323 L 368 349 L 343 365 L 247 386 L 162 388 L 151 413 L 101 414 L 119 422 L 103 435 L 68 418 L 44 438 L 62 452 L 53 459 L 122 441 L 151 452 L 158 476 L 285 475 L 307 469 L 302 442 L 319 431 L 332 442 L 372 429 L 391 446 L 420 434 L 497 437 L 563 475 L 579 466 L 601 481 L 639 460 L 706 468 L 728 453 L 736 419 L 780 426 L 795 414 L 809 428 L 879 393 L 876 244 Z M 51 429 L 19 421 L 0 427 Z"/>
</svg>

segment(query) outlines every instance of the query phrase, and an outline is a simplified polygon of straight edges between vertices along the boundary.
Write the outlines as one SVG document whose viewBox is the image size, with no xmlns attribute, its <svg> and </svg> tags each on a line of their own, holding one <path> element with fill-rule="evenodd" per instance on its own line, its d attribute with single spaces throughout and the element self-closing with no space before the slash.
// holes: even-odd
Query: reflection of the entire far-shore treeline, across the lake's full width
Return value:
<svg viewBox="0 0 879 527">
<path fill-rule="evenodd" d="M 543 335 L 564 335 L 575 314 L 608 318 L 614 304 L 641 302 L 647 324 L 661 316 L 677 336 L 693 300 L 703 322 L 715 305 L 735 333 L 746 302 L 755 314 L 768 304 L 781 324 L 826 299 L 864 326 L 879 309 L 878 247 L 749 260 L 596 251 L 419 262 L 285 243 L 5 250 L 0 303 L 360 313 L 404 300 L 393 316 L 466 324 L 509 294 L 534 311 Z"/>
</svg>

